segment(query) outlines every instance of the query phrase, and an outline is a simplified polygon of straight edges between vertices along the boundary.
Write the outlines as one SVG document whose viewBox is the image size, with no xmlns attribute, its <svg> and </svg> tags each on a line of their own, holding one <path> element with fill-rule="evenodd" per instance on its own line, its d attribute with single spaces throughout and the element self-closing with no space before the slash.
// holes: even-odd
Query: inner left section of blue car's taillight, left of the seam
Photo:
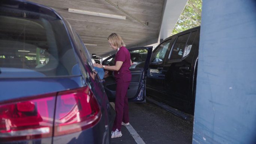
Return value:
<svg viewBox="0 0 256 144">
<path fill-rule="evenodd" d="M 29 99 L 0 105 L 0 141 L 52 136 L 55 98 Z"/>
</svg>

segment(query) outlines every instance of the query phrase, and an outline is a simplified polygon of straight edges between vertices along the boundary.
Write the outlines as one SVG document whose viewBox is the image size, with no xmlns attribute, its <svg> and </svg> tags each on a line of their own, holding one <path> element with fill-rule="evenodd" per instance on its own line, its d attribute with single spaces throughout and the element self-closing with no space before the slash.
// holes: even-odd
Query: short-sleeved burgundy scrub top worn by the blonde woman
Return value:
<svg viewBox="0 0 256 144">
<path fill-rule="evenodd" d="M 131 66 L 131 55 L 127 48 L 124 46 L 119 48 L 116 53 L 115 63 L 116 61 L 124 62 L 118 71 L 114 71 L 116 81 L 119 82 L 119 80 L 122 80 L 123 82 L 131 82 L 131 71 L 129 70 Z"/>
</svg>

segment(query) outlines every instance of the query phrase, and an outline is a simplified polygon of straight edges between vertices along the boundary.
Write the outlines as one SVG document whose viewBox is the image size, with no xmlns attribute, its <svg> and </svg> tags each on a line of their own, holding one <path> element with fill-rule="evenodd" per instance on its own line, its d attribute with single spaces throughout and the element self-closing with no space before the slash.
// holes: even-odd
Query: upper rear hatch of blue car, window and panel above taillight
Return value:
<svg viewBox="0 0 256 144">
<path fill-rule="evenodd" d="M 3 0 L 0 19 L 0 101 L 82 86 L 73 43 L 54 10 Z"/>
</svg>

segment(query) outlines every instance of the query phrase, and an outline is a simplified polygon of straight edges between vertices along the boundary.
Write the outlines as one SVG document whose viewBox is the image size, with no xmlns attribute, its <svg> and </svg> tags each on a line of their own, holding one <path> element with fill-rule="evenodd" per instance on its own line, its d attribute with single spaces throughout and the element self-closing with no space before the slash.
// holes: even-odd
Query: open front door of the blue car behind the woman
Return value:
<svg viewBox="0 0 256 144">
<path fill-rule="evenodd" d="M 127 96 L 128 101 L 145 102 L 146 96 L 146 73 L 150 61 L 152 46 L 128 49 L 131 54 L 132 66 L 129 68 L 132 74 Z M 115 65 L 115 54 L 105 59 L 103 65 Z M 116 81 L 114 76 L 105 79 L 104 89 L 110 101 L 116 96 Z"/>
</svg>

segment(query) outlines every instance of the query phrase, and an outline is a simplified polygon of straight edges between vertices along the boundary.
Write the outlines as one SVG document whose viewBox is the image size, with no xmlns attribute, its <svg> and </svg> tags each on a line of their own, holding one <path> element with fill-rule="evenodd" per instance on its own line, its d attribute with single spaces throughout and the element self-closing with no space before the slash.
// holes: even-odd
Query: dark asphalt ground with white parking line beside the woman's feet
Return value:
<svg viewBox="0 0 256 144">
<path fill-rule="evenodd" d="M 112 138 L 111 144 L 192 143 L 193 117 L 186 121 L 153 103 L 129 102 L 129 119 L 130 125 L 121 128 L 122 137 Z"/>
</svg>

